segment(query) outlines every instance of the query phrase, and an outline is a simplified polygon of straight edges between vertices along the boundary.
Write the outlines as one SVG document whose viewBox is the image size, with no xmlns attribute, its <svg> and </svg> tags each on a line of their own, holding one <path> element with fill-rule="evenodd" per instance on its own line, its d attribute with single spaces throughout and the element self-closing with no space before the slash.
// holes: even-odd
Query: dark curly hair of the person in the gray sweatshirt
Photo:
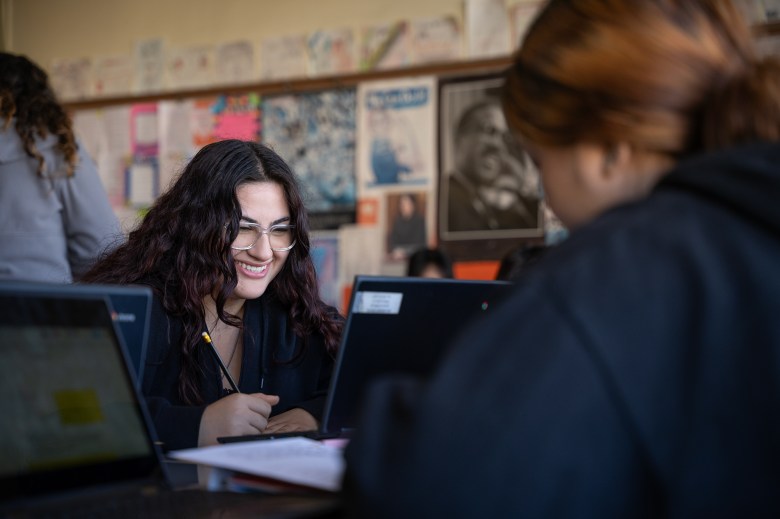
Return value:
<svg viewBox="0 0 780 519">
<path fill-rule="evenodd" d="M 25 56 L 0 52 L 0 117 L 5 120 L 4 130 L 16 118 L 16 132 L 27 155 L 38 161 L 38 175 L 43 176 L 46 165 L 35 147 L 35 137 L 52 134 L 65 157 L 65 176 L 73 176 L 78 148 L 71 120 L 57 101 L 46 72 Z"/>
</svg>

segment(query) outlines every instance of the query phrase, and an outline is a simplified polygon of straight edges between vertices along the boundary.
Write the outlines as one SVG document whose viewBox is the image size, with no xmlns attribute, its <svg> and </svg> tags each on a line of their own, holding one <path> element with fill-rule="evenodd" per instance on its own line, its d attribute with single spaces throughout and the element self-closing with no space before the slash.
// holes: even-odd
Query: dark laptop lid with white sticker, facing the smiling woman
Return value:
<svg viewBox="0 0 780 519">
<path fill-rule="evenodd" d="M 455 335 L 510 290 L 504 281 L 357 276 L 321 432 L 353 429 L 372 379 L 430 375 Z"/>
</svg>

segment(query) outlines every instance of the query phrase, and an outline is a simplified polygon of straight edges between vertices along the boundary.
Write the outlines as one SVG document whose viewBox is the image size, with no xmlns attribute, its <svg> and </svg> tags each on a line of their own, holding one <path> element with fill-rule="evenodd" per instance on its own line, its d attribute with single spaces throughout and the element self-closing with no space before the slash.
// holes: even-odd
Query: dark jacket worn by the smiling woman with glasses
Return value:
<svg viewBox="0 0 780 519">
<path fill-rule="evenodd" d="M 223 396 L 219 366 L 204 344 L 198 362 L 205 404 L 185 405 L 178 393 L 182 322 L 155 298 L 150 327 L 142 384 L 158 439 L 166 450 L 196 447 L 203 410 Z M 333 370 L 323 337 L 312 335 L 304 341 L 296 336 L 287 311 L 271 294 L 246 302 L 244 327 L 241 376 L 236 381 L 241 392 L 279 395 L 272 416 L 299 407 L 320 420 Z"/>
</svg>

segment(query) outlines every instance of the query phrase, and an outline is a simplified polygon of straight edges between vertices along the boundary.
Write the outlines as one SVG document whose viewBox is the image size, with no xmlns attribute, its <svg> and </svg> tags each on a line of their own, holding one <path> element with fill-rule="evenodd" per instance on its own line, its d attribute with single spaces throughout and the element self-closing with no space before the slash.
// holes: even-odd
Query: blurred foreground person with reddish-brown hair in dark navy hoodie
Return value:
<svg viewBox="0 0 780 519">
<path fill-rule="evenodd" d="M 552 0 L 504 110 L 571 234 L 372 387 L 350 511 L 780 516 L 778 58 L 728 1 Z"/>
</svg>

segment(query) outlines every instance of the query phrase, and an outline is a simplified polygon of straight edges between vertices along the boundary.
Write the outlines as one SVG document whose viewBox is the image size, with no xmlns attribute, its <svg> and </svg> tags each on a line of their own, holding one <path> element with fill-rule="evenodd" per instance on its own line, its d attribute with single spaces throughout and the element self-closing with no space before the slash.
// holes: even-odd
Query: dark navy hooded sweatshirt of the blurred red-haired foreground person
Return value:
<svg viewBox="0 0 780 519">
<path fill-rule="evenodd" d="M 780 516 L 780 146 L 682 162 L 517 280 L 427 386 L 377 383 L 361 517 Z"/>
</svg>

